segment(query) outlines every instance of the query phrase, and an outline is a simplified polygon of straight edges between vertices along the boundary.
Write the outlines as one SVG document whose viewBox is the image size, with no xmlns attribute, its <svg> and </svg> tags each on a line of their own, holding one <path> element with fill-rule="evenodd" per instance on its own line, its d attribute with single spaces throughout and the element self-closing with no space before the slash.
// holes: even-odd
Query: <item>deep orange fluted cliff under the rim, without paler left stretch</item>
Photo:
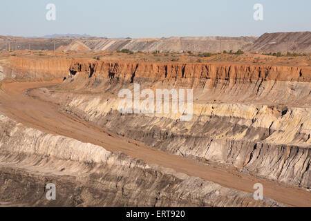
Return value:
<svg viewBox="0 0 311 221">
<path fill-rule="evenodd" d="M 174 63 L 127 63 L 105 61 L 73 61 L 70 70 L 93 72 L 109 77 L 148 77 L 151 79 L 244 79 L 310 82 L 310 67 L 259 66 L 238 64 L 174 64 Z"/>
</svg>

